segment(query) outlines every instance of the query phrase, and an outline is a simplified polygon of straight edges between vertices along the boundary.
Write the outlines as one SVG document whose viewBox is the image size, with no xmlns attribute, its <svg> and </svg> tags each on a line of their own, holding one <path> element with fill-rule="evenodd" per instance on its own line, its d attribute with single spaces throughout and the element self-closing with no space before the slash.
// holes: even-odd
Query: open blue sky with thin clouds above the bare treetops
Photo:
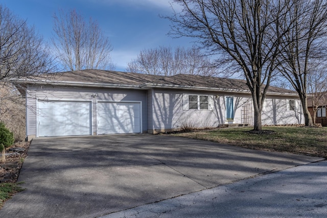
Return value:
<svg viewBox="0 0 327 218">
<path fill-rule="evenodd" d="M 34 25 L 45 41 L 52 36 L 52 16 L 59 9 L 76 9 L 88 20 L 99 22 L 113 46 L 111 58 L 116 70 L 125 71 L 127 62 L 143 49 L 160 45 L 192 47 L 192 39 L 173 39 L 167 33 L 171 0 L 0 0 L 15 15 Z M 176 8 L 176 6 L 174 6 Z"/>
</svg>

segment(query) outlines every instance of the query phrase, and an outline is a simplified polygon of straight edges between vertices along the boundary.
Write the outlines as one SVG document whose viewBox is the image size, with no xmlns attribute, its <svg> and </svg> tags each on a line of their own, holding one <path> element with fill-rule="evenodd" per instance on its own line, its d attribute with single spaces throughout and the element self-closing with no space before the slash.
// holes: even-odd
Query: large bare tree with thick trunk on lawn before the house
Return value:
<svg viewBox="0 0 327 218">
<path fill-rule="evenodd" d="M 171 35 L 196 38 L 217 62 L 243 72 L 252 94 L 254 130 L 261 130 L 261 112 L 286 34 L 278 25 L 288 8 L 278 0 L 174 0 L 181 11 L 167 16 Z"/>
</svg>

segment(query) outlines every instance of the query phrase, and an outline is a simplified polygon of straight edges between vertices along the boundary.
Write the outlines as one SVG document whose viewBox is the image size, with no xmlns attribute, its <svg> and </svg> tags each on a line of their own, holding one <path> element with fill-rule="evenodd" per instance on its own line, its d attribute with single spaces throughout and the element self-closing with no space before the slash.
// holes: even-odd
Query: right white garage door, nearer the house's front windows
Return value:
<svg viewBox="0 0 327 218">
<path fill-rule="evenodd" d="M 141 103 L 98 102 L 98 134 L 140 133 Z"/>
</svg>

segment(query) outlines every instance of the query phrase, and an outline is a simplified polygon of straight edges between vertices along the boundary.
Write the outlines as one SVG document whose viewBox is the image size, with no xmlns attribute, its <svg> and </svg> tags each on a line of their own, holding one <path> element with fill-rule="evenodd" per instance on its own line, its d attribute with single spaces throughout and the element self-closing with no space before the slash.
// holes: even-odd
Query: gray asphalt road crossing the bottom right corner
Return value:
<svg viewBox="0 0 327 218">
<path fill-rule="evenodd" d="M 327 217 L 327 161 L 102 216 L 113 217 Z"/>
</svg>

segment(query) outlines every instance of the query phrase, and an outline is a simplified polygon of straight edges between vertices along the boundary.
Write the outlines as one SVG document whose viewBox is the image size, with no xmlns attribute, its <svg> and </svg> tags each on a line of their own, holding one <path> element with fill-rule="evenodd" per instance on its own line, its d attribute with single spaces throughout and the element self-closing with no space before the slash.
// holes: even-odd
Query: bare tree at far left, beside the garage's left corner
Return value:
<svg viewBox="0 0 327 218">
<path fill-rule="evenodd" d="M 0 121 L 14 132 L 16 140 L 25 138 L 25 100 L 15 88 L 15 81 L 40 78 L 52 69 L 42 37 L 25 20 L 0 5 Z"/>
</svg>

